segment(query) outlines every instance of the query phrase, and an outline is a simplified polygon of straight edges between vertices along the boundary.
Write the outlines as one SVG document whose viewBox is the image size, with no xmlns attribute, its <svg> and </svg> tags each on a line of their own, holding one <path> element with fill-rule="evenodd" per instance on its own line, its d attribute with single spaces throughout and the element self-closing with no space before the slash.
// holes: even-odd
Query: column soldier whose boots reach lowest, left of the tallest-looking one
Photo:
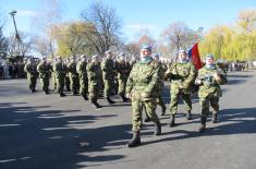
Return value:
<svg viewBox="0 0 256 169">
<path fill-rule="evenodd" d="M 88 76 L 88 92 L 89 100 L 95 108 L 101 108 L 97 102 L 99 97 L 99 83 L 100 83 L 100 62 L 98 56 L 94 56 L 92 61 L 87 65 L 87 76 Z"/>
</svg>

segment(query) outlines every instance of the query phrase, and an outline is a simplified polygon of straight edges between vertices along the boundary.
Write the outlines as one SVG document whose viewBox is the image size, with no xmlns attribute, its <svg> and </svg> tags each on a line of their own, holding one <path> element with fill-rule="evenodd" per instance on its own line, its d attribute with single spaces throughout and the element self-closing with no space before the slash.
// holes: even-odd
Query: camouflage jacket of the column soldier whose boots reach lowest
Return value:
<svg viewBox="0 0 256 169">
<path fill-rule="evenodd" d="M 89 85 L 98 85 L 101 79 L 101 70 L 99 62 L 90 62 L 87 65 L 87 75 Z"/>
</svg>

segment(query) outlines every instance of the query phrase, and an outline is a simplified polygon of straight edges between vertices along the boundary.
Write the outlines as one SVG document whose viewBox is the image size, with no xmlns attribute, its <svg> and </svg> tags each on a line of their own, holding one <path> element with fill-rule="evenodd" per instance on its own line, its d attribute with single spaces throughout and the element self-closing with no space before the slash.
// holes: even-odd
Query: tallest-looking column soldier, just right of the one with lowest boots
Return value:
<svg viewBox="0 0 256 169">
<path fill-rule="evenodd" d="M 106 58 L 101 63 L 102 79 L 103 79 L 103 94 L 109 104 L 114 104 L 110 99 L 111 90 L 114 89 L 114 62 L 110 50 L 106 51 Z"/>
</svg>

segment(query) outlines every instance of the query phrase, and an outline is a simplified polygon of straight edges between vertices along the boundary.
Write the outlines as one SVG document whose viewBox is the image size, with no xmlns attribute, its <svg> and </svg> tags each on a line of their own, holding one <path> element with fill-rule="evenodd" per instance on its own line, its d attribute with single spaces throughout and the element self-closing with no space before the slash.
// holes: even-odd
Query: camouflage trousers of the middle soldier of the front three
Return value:
<svg viewBox="0 0 256 169">
<path fill-rule="evenodd" d="M 175 114 L 178 112 L 179 96 L 182 96 L 186 111 L 192 110 L 191 93 L 184 92 L 175 85 L 171 85 L 171 101 L 170 101 L 170 113 Z"/>
</svg>

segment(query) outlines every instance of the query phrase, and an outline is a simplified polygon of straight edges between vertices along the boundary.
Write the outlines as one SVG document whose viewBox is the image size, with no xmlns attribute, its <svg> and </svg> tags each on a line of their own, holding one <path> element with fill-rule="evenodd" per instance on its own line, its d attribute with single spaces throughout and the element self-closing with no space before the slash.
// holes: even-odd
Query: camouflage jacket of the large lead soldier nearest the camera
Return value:
<svg viewBox="0 0 256 169">
<path fill-rule="evenodd" d="M 156 98 L 159 73 L 159 64 L 155 61 L 135 63 L 127 79 L 126 94 L 130 94 L 132 99 Z"/>
</svg>

